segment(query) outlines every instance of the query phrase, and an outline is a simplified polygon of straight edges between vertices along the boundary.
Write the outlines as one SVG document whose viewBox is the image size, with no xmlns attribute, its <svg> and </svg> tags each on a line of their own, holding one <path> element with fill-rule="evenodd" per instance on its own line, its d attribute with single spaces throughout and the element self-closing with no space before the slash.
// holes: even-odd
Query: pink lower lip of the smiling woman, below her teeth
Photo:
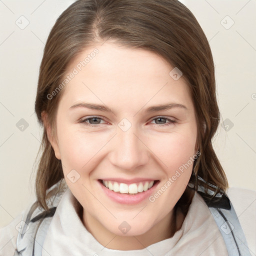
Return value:
<svg viewBox="0 0 256 256">
<path fill-rule="evenodd" d="M 139 192 L 137 194 L 126 194 L 126 193 L 114 192 L 114 191 L 106 188 L 101 183 L 101 181 L 98 180 L 98 182 L 99 182 L 101 188 L 103 189 L 103 191 L 105 192 L 105 194 L 108 197 L 110 197 L 112 200 L 114 200 L 115 202 L 122 203 L 122 204 L 137 204 L 137 203 L 142 202 L 146 198 L 148 198 L 153 193 L 159 180 L 155 181 L 153 186 L 150 187 L 149 189 L 147 189 L 146 191 Z"/>
</svg>

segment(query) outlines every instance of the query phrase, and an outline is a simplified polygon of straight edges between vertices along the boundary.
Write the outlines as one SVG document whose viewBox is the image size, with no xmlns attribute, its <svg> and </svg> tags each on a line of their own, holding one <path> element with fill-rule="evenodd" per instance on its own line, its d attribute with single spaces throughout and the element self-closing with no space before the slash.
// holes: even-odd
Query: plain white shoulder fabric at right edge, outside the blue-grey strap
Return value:
<svg viewBox="0 0 256 256">
<path fill-rule="evenodd" d="M 239 219 L 249 249 L 256 254 L 256 191 L 229 187 L 227 196 Z"/>
</svg>

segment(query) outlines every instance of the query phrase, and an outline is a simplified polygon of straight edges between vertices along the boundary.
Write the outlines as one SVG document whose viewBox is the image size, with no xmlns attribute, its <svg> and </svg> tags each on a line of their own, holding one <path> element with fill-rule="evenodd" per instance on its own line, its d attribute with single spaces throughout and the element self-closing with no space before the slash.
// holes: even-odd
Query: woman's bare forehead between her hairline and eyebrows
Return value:
<svg viewBox="0 0 256 256">
<path fill-rule="evenodd" d="M 182 76 L 173 79 L 172 69 L 152 51 L 105 42 L 84 49 L 69 63 L 66 75 L 75 75 L 62 97 L 69 104 L 94 100 L 137 108 L 149 101 L 178 101 L 191 107 L 188 86 Z"/>
</svg>

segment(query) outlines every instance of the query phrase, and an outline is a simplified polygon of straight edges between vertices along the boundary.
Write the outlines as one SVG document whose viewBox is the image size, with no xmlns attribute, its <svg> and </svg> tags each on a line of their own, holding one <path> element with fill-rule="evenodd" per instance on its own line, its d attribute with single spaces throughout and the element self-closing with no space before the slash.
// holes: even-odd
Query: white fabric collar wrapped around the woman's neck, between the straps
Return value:
<svg viewBox="0 0 256 256">
<path fill-rule="evenodd" d="M 193 239 L 194 235 L 196 235 L 196 239 L 207 238 L 207 240 L 209 240 L 209 244 L 214 239 L 216 239 L 216 237 L 221 236 L 217 225 L 215 224 L 215 221 L 211 216 L 210 211 L 208 210 L 207 205 L 201 196 L 198 193 L 195 193 L 181 228 L 176 231 L 172 237 L 151 244 L 146 248 L 139 250 L 108 249 L 101 245 L 84 227 L 79 216 L 77 215 L 77 212 L 75 211 L 75 200 L 76 199 L 74 198 L 70 189 L 67 188 L 67 190 L 62 195 L 62 198 L 56 208 L 55 214 L 51 220 L 43 243 L 42 256 L 48 256 L 49 254 L 51 256 L 164 256 L 170 255 L 169 253 L 178 253 L 178 255 L 180 255 L 179 253 L 181 251 L 183 253 L 185 250 L 189 255 L 195 255 L 189 253 L 189 251 L 191 252 L 191 246 L 189 246 L 189 242 L 191 245 L 191 240 Z M 207 234 L 209 231 L 210 235 Z M 215 243 L 217 251 L 217 247 L 221 248 L 224 245 L 224 241 L 221 239 L 221 237 L 218 240 L 218 244 Z M 199 245 L 199 247 L 201 246 L 202 248 L 198 248 L 199 252 L 204 248 L 203 243 L 201 243 L 201 245 Z M 207 242 L 205 245 L 207 245 Z M 215 253 L 216 250 L 213 252 Z"/>
</svg>

